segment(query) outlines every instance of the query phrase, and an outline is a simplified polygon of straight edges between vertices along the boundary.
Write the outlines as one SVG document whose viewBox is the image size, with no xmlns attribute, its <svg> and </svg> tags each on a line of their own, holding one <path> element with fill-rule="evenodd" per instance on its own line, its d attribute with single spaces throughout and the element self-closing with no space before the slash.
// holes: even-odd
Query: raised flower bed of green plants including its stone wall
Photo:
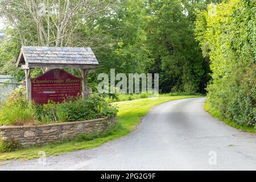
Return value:
<svg viewBox="0 0 256 182">
<path fill-rule="evenodd" d="M 117 109 L 99 94 L 36 105 L 27 100 L 23 86 L 1 105 L 0 140 L 5 148 L 18 148 L 101 133 L 114 125 L 116 114 Z"/>
</svg>

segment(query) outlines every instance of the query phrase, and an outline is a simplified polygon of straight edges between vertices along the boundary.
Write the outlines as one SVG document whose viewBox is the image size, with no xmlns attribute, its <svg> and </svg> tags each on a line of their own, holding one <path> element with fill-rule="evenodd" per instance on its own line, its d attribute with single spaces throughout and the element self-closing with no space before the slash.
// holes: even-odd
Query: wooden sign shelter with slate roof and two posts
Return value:
<svg viewBox="0 0 256 182">
<path fill-rule="evenodd" d="M 27 47 L 20 48 L 16 67 L 26 74 L 27 98 L 31 100 L 30 73 L 33 68 L 79 68 L 82 76 L 82 97 L 87 95 L 86 76 L 89 69 L 98 65 L 89 47 Z"/>
</svg>

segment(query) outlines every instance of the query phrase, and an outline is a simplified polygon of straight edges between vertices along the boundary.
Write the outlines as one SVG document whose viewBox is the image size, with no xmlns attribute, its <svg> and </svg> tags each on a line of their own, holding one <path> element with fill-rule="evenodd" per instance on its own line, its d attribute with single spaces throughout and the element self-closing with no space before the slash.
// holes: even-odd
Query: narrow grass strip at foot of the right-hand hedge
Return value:
<svg viewBox="0 0 256 182">
<path fill-rule="evenodd" d="M 205 102 L 204 109 L 206 111 L 208 111 L 208 113 L 210 115 L 212 115 L 213 117 L 218 118 L 218 120 L 223 121 L 224 123 L 226 123 L 226 125 L 235 127 L 236 129 L 239 129 L 241 131 L 246 131 L 246 132 L 249 132 L 249 133 L 256 133 L 256 130 L 253 126 L 239 125 L 238 123 L 232 121 L 231 119 L 223 118 L 220 114 L 220 111 L 213 110 L 212 108 L 210 108 L 210 106 L 207 102 Z"/>
</svg>

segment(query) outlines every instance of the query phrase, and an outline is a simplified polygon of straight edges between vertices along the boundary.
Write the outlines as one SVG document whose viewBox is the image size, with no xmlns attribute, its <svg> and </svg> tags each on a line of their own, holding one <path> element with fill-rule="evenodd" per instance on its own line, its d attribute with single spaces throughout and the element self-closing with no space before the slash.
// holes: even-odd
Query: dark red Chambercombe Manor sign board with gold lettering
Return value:
<svg viewBox="0 0 256 182">
<path fill-rule="evenodd" d="M 81 93 L 81 78 L 63 69 L 51 69 L 42 76 L 31 78 L 31 98 L 35 104 L 47 104 L 48 100 L 62 102 L 67 96 Z"/>
</svg>

